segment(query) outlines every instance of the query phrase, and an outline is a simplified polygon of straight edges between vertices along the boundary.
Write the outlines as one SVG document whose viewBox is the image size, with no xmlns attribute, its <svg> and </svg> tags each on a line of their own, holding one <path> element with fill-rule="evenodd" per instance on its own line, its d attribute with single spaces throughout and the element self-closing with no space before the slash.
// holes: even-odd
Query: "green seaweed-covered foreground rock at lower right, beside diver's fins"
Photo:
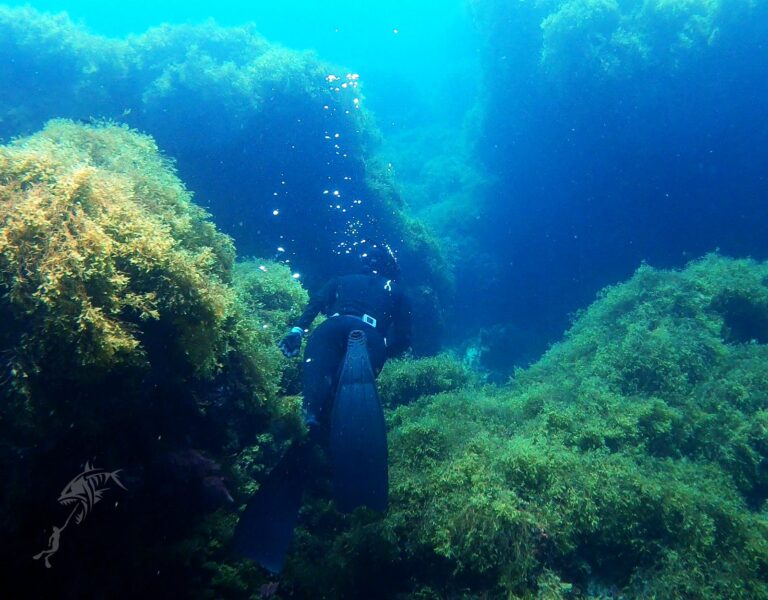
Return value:
<svg viewBox="0 0 768 600">
<path fill-rule="evenodd" d="M 509 386 L 398 407 L 388 514 L 304 539 L 329 555 L 312 576 L 340 597 L 768 598 L 767 276 L 643 266 Z"/>
</svg>

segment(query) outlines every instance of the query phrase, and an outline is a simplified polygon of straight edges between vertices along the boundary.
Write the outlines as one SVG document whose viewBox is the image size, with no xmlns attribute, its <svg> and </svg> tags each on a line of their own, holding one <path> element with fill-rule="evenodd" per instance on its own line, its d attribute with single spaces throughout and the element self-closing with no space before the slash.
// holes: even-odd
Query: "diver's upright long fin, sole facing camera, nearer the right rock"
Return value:
<svg viewBox="0 0 768 600">
<path fill-rule="evenodd" d="M 365 333 L 349 334 L 331 413 L 334 500 L 339 510 L 386 510 L 387 426 Z"/>
</svg>

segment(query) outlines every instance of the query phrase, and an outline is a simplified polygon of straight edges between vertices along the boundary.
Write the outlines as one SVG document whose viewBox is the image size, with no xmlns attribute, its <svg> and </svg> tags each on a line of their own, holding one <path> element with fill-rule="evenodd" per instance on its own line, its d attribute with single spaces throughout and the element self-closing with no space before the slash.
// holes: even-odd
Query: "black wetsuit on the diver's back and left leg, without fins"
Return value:
<svg viewBox="0 0 768 600">
<path fill-rule="evenodd" d="M 331 279 L 312 297 L 297 325 L 308 329 L 321 312 L 328 320 L 315 329 L 304 351 L 304 409 L 309 424 L 322 422 L 333 402 L 351 331 L 365 332 L 376 375 L 387 358 L 410 345 L 410 303 L 394 281 L 379 275 Z"/>
</svg>

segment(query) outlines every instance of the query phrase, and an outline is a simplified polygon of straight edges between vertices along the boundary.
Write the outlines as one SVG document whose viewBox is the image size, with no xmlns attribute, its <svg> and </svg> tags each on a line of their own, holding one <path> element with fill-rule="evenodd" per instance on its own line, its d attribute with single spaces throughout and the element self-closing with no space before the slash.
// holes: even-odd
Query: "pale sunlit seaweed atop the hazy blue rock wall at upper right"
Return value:
<svg viewBox="0 0 768 600">
<path fill-rule="evenodd" d="M 738 49 L 762 52 L 757 44 L 766 27 L 766 7 L 748 0 L 470 0 L 469 4 L 497 50 L 509 52 L 494 61 L 498 77 L 530 81 L 531 72 L 538 71 L 545 77 L 537 79 L 536 86 L 560 93 L 576 91 L 569 87 L 574 82 L 606 89 L 605 84 L 618 80 L 634 90 L 647 83 L 642 77 L 650 73 L 673 81 L 696 66 L 703 67 L 701 75 L 706 77 L 724 58 L 741 60 L 727 56 Z M 511 29 L 522 35 L 505 39 Z M 664 93 L 656 87 L 648 91 Z"/>
</svg>

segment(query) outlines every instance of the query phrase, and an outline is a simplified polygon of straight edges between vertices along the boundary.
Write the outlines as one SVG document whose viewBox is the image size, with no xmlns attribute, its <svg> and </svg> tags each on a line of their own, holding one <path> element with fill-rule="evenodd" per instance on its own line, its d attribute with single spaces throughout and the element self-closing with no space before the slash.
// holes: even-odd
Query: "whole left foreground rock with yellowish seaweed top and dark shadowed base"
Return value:
<svg viewBox="0 0 768 600">
<path fill-rule="evenodd" d="M 168 547 L 231 523 L 231 507 L 206 515 L 252 491 L 302 432 L 299 402 L 281 396 L 295 365 L 274 341 L 306 292 L 285 266 L 259 280 L 235 268 L 232 240 L 125 126 L 52 121 L 0 147 L 0 223 L 3 593 L 18 577 L 30 597 L 59 587 L 28 557 L 61 486 L 98 455 L 125 489 L 98 511 L 109 535 L 62 553 L 61 575 L 88 570 L 115 597 L 126 581 L 187 595 L 184 554 Z"/>
</svg>

